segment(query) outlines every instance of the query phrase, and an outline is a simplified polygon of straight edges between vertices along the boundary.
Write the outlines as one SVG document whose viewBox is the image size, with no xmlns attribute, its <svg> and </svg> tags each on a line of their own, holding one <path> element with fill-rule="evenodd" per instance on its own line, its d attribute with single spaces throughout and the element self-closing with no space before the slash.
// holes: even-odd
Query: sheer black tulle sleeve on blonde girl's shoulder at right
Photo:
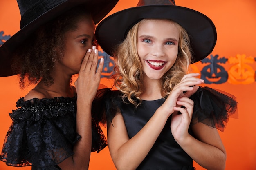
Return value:
<svg viewBox="0 0 256 170">
<path fill-rule="evenodd" d="M 202 122 L 223 132 L 229 117 L 238 117 L 236 97 L 229 93 L 200 86 L 190 98 L 194 101 L 192 124 Z"/>
</svg>

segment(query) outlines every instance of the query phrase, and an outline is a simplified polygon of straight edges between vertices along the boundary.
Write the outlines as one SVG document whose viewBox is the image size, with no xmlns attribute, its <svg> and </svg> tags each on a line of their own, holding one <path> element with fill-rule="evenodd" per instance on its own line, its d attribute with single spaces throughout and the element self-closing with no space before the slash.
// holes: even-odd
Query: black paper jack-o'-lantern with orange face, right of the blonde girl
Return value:
<svg viewBox="0 0 256 170">
<path fill-rule="evenodd" d="M 225 64 L 227 62 L 227 59 L 224 57 L 218 57 L 219 55 L 211 55 L 210 58 L 207 57 L 201 60 L 203 64 L 209 63 L 207 66 L 204 66 L 201 71 L 201 79 L 204 80 L 205 84 L 222 84 L 227 82 L 228 73 L 224 67 L 218 64 Z"/>
</svg>

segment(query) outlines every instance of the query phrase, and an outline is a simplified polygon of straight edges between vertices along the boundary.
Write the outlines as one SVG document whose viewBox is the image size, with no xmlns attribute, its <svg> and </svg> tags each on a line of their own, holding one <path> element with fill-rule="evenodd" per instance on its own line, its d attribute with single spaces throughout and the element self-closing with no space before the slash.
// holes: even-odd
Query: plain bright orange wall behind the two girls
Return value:
<svg viewBox="0 0 256 170">
<path fill-rule="evenodd" d="M 137 0 L 119 0 L 117 6 L 110 12 L 134 7 Z M 176 0 L 176 5 L 189 7 L 207 15 L 213 20 L 217 29 L 216 48 L 212 54 L 220 57 L 235 57 L 245 54 L 256 57 L 256 1 L 255 0 Z M 5 35 L 13 35 L 19 30 L 20 13 L 16 0 L 0 2 L 0 31 Z M 256 62 L 249 64 L 256 70 Z M 199 70 L 202 64 L 196 64 Z M 231 64 L 225 64 L 228 71 Z M 255 76 L 255 75 L 254 75 Z M 102 84 L 112 86 L 111 79 L 102 79 Z M 229 119 L 229 123 L 220 136 L 227 151 L 226 170 L 255 170 L 256 169 L 256 82 L 245 84 L 205 84 L 212 88 L 231 93 L 237 97 L 238 119 Z M 16 76 L 0 77 L 0 146 L 11 124 L 8 113 L 15 109 L 16 101 L 27 91 L 18 88 Z M 106 133 L 106 128 L 103 128 Z M 0 147 L 1 148 L 1 147 Z M 203 170 L 196 163 L 197 170 Z M 0 170 L 16 170 L 0 161 Z M 31 167 L 18 168 L 29 170 Z M 108 148 L 101 152 L 92 153 L 90 170 L 115 170 Z"/>
</svg>

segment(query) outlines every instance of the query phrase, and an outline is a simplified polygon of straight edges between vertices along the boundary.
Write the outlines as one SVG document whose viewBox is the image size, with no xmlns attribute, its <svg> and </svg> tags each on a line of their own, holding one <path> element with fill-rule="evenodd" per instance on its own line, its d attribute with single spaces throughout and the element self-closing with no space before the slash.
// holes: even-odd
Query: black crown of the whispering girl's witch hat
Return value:
<svg viewBox="0 0 256 170">
<path fill-rule="evenodd" d="M 20 9 L 20 28 L 66 0 L 17 0 Z"/>
</svg>

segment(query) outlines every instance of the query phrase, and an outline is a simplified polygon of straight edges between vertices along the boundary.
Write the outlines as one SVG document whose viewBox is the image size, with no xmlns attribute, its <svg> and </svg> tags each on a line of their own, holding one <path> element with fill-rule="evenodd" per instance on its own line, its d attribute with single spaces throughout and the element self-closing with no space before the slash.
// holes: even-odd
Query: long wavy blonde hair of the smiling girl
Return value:
<svg viewBox="0 0 256 170">
<path fill-rule="evenodd" d="M 135 106 L 141 104 L 139 95 L 144 91 L 143 69 L 137 53 L 138 27 L 145 20 L 143 19 L 128 31 L 124 42 L 119 44 L 114 52 L 115 57 L 115 74 L 114 86 L 123 93 L 123 100 L 128 101 Z M 159 19 L 157 19 L 159 20 Z M 163 19 L 166 20 L 166 19 Z M 167 71 L 161 79 L 161 95 L 167 97 L 173 87 L 180 82 L 182 77 L 188 73 L 189 64 L 192 60 L 189 35 L 186 30 L 174 22 L 172 22 L 180 32 L 178 55 L 175 63 Z"/>
</svg>

